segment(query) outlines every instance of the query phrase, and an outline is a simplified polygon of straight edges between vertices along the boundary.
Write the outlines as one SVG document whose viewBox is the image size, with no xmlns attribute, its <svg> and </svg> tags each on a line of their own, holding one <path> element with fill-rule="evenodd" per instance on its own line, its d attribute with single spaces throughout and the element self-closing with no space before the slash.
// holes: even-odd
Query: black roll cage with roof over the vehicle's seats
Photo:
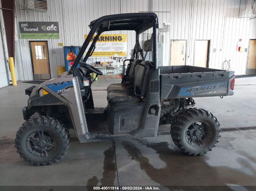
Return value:
<svg viewBox="0 0 256 191">
<path fill-rule="evenodd" d="M 88 25 L 90 27 L 90 32 L 88 33 L 87 38 L 85 39 L 73 65 L 69 70 L 69 74 L 72 74 L 74 68 L 77 67 L 79 61 L 81 60 L 83 54 L 85 53 L 86 48 L 88 47 L 93 35 L 96 33 L 91 46 L 88 49 L 88 52 L 83 59 L 83 62 L 86 62 L 87 59 L 92 55 L 95 50 L 95 44 L 98 40 L 98 37 L 101 33 L 105 31 L 113 30 L 134 30 L 136 32 L 136 41 L 139 39 L 139 34 L 144 31 L 153 28 L 153 38 L 152 43 L 157 44 L 157 29 L 158 29 L 158 17 L 155 13 L 126 13 L 126 14 L 113 14 L 100 17 Z M 135 53 L 135 50 L 133 51 Z M 157 68 L 157 46 L 152 47 L 153 53 L 153 63 L 154 69 Z M 134 56 L 134 55 L 133 55 Z M 136 58 L 138 54 L 136 53 Z"/>
</svg>

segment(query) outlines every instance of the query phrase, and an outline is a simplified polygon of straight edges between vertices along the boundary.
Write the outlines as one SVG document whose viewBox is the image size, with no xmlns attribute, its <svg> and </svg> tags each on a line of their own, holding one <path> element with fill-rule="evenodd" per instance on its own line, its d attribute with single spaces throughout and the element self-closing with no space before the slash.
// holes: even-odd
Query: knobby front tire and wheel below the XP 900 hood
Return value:
<svg viewBox="0 0 256 191">
<path fill-rule="evenodd" d="M 62 124 L 45 116 L 27 120 L 15 138 L 17 153 L 36 166 L 58 162 L 67 153 L 69 143 L 68 131 Z"/>
</svg>

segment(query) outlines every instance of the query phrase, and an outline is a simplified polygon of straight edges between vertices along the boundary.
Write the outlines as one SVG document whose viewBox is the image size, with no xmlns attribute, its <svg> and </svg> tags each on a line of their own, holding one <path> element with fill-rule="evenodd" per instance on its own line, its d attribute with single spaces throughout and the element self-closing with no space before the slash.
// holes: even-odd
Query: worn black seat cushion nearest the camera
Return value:
<svg viewBox="0 0 256 191">
<path fill-rule="evenodd" d="M 119 103 L 139 103 L 141 97 L 136 96 L 133 90 L 119 90 L 108 93 L 107 100 L 111 104 Z"/>
</svg>

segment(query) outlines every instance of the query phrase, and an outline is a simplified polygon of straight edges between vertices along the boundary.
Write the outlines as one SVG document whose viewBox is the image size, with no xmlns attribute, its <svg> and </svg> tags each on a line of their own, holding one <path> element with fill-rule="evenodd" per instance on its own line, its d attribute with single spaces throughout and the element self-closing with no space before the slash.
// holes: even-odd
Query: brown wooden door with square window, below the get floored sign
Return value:
<svg viewBox="0 0 256 191">
<path fill-rule="evenodd" d="M 51 79 L 47 42 L 30 42 L 35 79 Z"/>
</svg>

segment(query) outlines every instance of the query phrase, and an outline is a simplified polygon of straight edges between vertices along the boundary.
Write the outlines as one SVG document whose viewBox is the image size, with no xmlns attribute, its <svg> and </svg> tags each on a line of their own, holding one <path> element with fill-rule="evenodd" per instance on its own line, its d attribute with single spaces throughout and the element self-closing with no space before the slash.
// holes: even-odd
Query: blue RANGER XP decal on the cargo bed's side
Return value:
<svg viewBox="0 0 256 191">
<path fill-rule="evenodd" d="M 201 86 L 182 88 L 180 96 L 226 93 L 227 88 L 228 82 L 220 82 L 215 84 L 206 84 Z"/>
</svg>

